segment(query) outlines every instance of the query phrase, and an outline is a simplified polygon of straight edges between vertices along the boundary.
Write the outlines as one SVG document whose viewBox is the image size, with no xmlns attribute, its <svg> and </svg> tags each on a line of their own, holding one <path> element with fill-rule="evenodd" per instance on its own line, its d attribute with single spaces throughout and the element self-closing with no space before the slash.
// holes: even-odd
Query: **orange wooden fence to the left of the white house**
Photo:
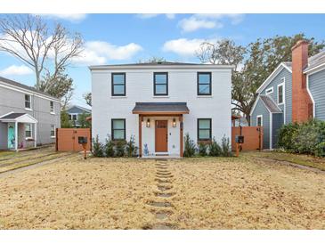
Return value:
<svg viewBox="0 0 325 244">
<path fill-rule="evenodd" d="M 90 128 L 58 128 L 56 129 L 56 150 L 82 151 L 82 144 L 78 143 L 78 137 L 87 137 L 86 150 L 91 150 L 92 134 Z"/>
</svg>

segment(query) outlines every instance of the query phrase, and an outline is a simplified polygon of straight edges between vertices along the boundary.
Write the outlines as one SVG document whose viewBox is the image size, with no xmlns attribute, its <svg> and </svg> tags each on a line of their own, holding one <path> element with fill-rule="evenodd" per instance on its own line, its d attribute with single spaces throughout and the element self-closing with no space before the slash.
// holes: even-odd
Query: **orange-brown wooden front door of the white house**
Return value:
<svg viewBox="0 0 325 244">
<path fill-rule="evenodd" d="M 167 152 L 168 151 L 168 128 L 167 120 L 156 120 L 156 152 Z"/>
</svg>

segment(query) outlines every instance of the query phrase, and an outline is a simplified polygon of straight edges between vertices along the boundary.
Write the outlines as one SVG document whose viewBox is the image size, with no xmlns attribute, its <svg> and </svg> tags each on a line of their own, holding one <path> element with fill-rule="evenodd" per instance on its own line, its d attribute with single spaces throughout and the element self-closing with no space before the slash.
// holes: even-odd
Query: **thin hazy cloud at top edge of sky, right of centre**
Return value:
<svg viewBox="0 0 325 244">
<path fill-rule="evenodd" d="M 239 24 L 244 18 L 243 14 L 237 13 L 199 13 L 179 22 L 184 32 L 191 32 L 199 28 L 223 28 L 223 19 L 231 20 L 233 25 Z"/>
</svg>

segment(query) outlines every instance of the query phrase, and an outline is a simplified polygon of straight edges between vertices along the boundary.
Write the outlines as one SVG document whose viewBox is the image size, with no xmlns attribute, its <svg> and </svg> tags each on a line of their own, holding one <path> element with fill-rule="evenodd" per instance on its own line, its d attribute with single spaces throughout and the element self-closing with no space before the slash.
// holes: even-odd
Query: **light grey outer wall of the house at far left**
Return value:
<svg viewBox="0 0 325 244">
<path fill-rule="evenodd" d="M 51 125 L 56 128 L 61 127 L 61 104 L 54 102 L 54 114 L 50 112 L 50 100 L 41 98 L 29 92 L 31 95 L 32 110 L 25 110 L 25 93 L 15 91 L 0 86 L 0 116 L 9 112 L 27 113 L 37 119 L 37 144 L 47 144 L 55 142 L 51 138 Z M 0 148 L 7 147 L 6 123 L 0 126 Z M 5 131 L 4 131 L 5 128 Z"/>
</svg>

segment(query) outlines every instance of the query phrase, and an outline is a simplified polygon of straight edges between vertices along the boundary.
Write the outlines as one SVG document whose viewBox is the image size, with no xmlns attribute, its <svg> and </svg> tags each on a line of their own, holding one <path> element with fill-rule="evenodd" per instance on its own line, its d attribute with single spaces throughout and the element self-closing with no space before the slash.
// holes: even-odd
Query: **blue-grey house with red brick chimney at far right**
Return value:
<svg viewBox="0 0 325 244">
<path fill-rule="evenodd" d="M 281 62 L 257 93 L 251 124 L 264 127 L 264 149 L 273 149 L 281 126 L 325 120 L 325 52 L 308 58 L 308 43 L 297 42 L 292 61 Z"/>
</svg>

